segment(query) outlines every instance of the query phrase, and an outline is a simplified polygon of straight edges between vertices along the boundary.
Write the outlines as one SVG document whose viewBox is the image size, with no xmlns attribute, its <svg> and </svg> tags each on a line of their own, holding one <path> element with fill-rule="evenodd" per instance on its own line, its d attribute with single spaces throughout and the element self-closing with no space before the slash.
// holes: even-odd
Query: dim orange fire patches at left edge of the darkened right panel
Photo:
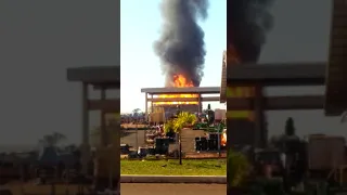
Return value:
<svg viewBox="0 0 347 195">
<path fill-rule="evenodd" d="M 233 46 L 229 46 L 227 50 L 227 64 L 239 65 L 240 57 L 237 51 Z M 229 98 L 250 98 L 254 95 L 254 88 L 249 87 L 237 87 L 237 88 L 227 88 L 227 96 Z M 230 118 L 247 118 L 248 120 L 254 120 L 254 113 L 249 110 L 233 110 L 228 112 L 228 117 Z"/>
</svg>

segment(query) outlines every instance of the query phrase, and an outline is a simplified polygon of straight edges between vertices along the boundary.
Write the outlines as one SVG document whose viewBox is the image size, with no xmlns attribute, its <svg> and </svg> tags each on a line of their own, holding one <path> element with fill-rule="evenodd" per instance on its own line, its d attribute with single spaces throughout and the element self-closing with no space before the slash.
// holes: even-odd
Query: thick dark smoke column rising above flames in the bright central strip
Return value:
<svg viewBox="0 0 347 195">
<path fill-rule="evenodd" d="M 163 0 L 164 23 L 154 50 L 160 57 L 167 87 L 176 74 L 200 86 L 206 51 L 204 31 L 197 22 L 207 17 L 207 0 Z"/>
</svg>

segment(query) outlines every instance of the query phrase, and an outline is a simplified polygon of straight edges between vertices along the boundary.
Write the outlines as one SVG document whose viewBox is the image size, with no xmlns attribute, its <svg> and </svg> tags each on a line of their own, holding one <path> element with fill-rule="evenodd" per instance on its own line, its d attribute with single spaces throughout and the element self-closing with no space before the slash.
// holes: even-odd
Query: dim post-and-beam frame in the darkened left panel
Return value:
<svg viewBox="0 0 347 195">
<path fill-rule="evenodd" d="M 67 80 L 81 83 L 81 134 L 82 134 L 82 168 L 87 171 L 88 162 L 90 160 L 90 132 L 89 132 L 89 112 L 100 110 L 100 125 L 101 125 L 101 144 L 107 145 L 106 134 L 106 119 L 105 115 L 108 113 L 120 113 L 120 100 L 106 99 L 107 90 L 120 89 L 120 66 L 98 66 L 98 67 L 78 67 L 67 69 Z M 89 98 L 89 87 L 93 90 L 100 91 L 100 100 L 91 100 Z M 120 127 L 115 127 L 116 132 L 119 132 Z M 119 128 L 119 129 L 118 129 Z M 120 135 L 119 135 L 120 139 Z M 120 147 L 120 140 L 117 145 Z M 120 158 L 120 148 L 118 150 Z M 115 165 L 117 167 L 117 165 Z M 118 165 L 119 167 L 120 165 Z"/>
</svg>

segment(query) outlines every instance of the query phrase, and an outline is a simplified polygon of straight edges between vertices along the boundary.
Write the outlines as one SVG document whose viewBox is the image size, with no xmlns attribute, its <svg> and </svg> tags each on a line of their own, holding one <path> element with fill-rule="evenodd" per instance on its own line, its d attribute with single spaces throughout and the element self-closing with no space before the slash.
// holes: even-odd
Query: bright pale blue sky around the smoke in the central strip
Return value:
<svg viewBox="0 0 347 195">
<path fill-rule="evenodd" d="M 121 113 L 144 109 L 141 88 L 164 87 L 159 58 L 153 42 L 160 32 L 160 0 L 127 0 L 120 5 Z M 202 23 L 205 31 L 205 76 L 201 86 L 220 86 L 222 52 L 227 43 L 227 1 L 209 1 L 208 18 Z M 224 107 L 211 103 L 213 108 Z"/>
</svg>

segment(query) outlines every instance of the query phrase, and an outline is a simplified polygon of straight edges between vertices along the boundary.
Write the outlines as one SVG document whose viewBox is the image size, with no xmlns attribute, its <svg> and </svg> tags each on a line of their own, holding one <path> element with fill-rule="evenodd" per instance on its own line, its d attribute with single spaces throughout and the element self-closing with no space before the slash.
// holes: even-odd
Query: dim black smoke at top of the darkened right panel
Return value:
<svg viewBox="0 0 347 195">
<path fill-rule="evenodd" d="M 273 26 L 269 13 L 273 0 L 228 0 L 228 47 L 232 44 L 241 62 L 259 60 L 266 34 Z"/>
</svg>

